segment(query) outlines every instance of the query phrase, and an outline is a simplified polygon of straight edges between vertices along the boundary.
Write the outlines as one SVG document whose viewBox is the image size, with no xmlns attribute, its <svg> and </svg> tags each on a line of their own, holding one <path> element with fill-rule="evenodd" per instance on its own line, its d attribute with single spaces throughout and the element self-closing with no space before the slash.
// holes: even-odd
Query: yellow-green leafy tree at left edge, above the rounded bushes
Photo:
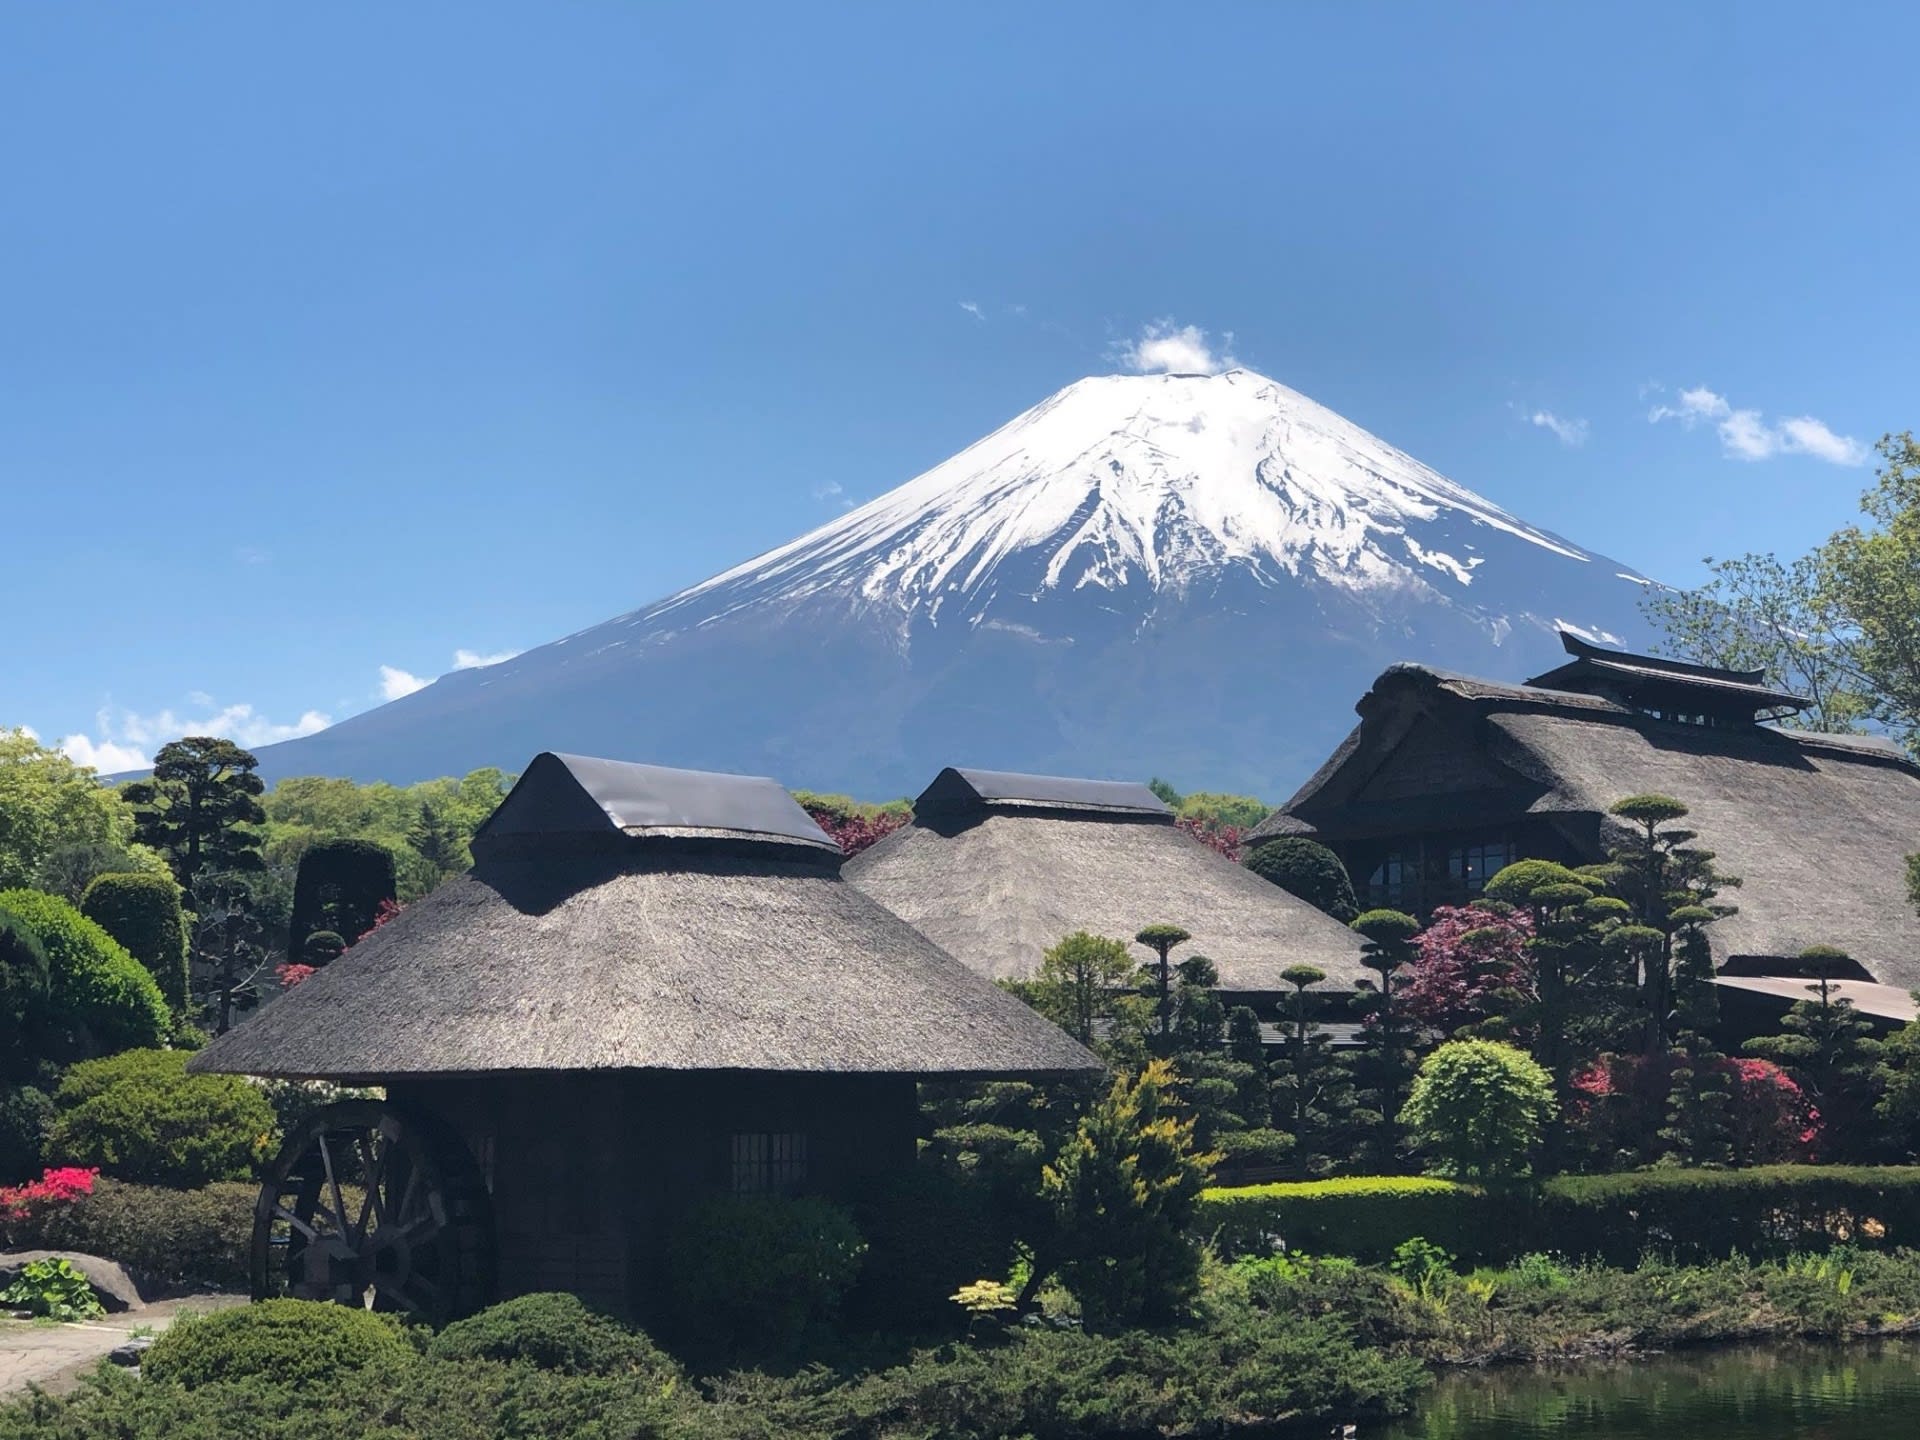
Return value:
<svg viewBox="0 0 1920 1440">
<path fill-rule="evenodd" d="M 44 889 L 90 862 L 142 868 L 132 856 L 132 810 L 117 791 L 33 733 L 0 730 L 0 889 Z M 79 889 L 60 893 L 79 899 Z"/>
</svg>

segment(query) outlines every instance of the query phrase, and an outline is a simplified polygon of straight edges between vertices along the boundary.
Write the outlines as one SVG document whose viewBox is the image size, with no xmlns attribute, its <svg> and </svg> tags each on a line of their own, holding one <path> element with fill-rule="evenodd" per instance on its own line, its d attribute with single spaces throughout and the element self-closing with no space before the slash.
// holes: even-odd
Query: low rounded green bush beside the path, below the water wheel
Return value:
<svg viewBox="0 0 1920 1440">
<path fill-rule="evenodd" d="M 259 1300 L 182 1315 L 140 1359 L 140 1373 L 184 1386 L 248 1379 L 309 1386 L 411 1354 L 392 1315 L 317 1300 Z"/>
</svg>

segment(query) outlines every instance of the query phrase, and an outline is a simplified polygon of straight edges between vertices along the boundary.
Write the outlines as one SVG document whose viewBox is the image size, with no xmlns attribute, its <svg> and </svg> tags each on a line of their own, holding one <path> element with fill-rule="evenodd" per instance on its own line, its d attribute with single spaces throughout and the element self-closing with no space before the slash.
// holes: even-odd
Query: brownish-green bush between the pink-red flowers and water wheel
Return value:
<svg viewBox="0 0 1920 1440">
<path fill-rule="evenodd" d="M 169 1190 L 94 1181 L 94 1192 L 15 1235 L 23 1250 L 79 1250 L 125 1265 L 142 1292 L 246 1288 L 257 1185 Z"/>
</svg>

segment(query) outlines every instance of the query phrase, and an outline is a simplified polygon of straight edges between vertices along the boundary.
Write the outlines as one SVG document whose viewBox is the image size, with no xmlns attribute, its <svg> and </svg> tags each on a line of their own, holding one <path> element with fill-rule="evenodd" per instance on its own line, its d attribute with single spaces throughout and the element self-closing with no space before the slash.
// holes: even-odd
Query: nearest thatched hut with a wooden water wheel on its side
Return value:
<svg viewBox="0 0 1920 1440">
<path fill-rule="evenodd" d="M 916 1079 L 1100 1068 L 841 881 L 770 780 L 540 755 L 472 851 L 192 1060 L 386 1091 L 288 1140 L 261 1292 L 645 1313 L 701 1196 L 910 1165 Z"/>
</svg>

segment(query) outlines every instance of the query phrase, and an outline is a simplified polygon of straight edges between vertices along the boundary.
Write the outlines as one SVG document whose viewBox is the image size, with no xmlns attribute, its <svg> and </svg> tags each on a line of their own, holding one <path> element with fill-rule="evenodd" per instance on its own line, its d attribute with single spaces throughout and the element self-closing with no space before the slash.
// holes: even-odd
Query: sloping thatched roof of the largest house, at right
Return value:
<svg viewBox="0 0 1920 1440">
<path fill-rule="evenodd" d="M 1597 695 L 1398 664 L 1361 701 L 1359 732 L 1336 762 L 1286 803 L 1288 820 L 1261 824 L 1250 843 L 1269 833 L 1336 835 L 1344 795 L 1394 745 L 1421 728 L 1457 733 L 1450 707 L 1469 710 L 1478 756 L 1505 776 L 1509 818 L 1548 816 L 1567 835 L 1592 837 L 1594 818 L 1626 795 L 1672 795 L 1692 806 L 1688 826 L 1699 843 L 1743 881 L 1726 895 L 1740 914 L 1709 929 L 1720 962 L 1836 945 L 1878 981 L 1920 985 L 1920 916 L 1905 885 L 1905 856 L 1920 849 L 1920 768 L 1876 737 L 1674 724 Z M 1467 791 L 1348 808 L 1388 818 L 1398 808 L 1413 831 L 1469 804 L 1492 814 L 1490 801 Z M 1380 824 L 1369 814 L 1375 831 Z"/>
</svg>

